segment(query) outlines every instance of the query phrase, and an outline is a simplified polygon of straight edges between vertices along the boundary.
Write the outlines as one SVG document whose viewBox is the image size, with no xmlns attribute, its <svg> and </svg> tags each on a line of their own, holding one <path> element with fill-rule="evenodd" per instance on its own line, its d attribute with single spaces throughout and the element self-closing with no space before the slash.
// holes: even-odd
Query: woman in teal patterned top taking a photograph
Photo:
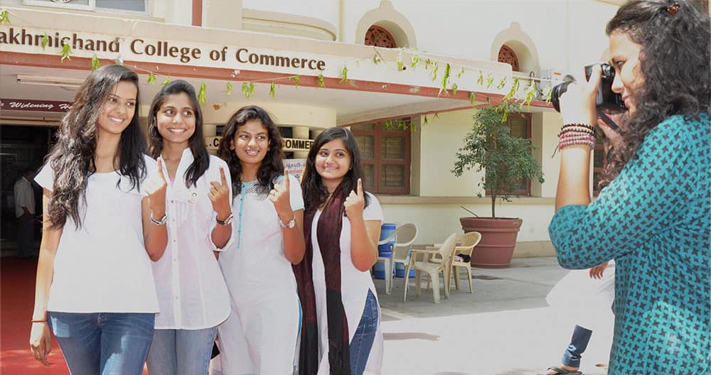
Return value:
<svg viewBox="0 0 711 375">
<path fill-rule="evenodd" d="M 710 19 L 688 1 L 632 0 L 609 21 L 622 142 L 589 195 L 600 69 L 560 97 L 558 261 L 616 261 L 609 374 L 707 374 L 711 293 Z"/>
</svg>

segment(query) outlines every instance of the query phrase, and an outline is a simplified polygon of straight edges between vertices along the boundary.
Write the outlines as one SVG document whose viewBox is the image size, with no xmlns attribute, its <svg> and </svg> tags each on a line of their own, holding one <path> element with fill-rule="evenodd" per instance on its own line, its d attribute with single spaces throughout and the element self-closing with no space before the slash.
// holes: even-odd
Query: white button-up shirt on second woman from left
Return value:
<svg viewBox="0 0 711 375">
<path fill-rule="evenodd" d="M 186 148 L 178 163 L 175 182 L 166 189 L 168 246 L 161 259 L 153 263 L 156 291 L 161 312 L 156 315 L 156 329 L 202 330 L 215 327 L 230 315 L 230 295 L 213 251 L 221 251 L 212 241 L 217 225 L 208 197 L 211 181 L 220 182 L 220 167 L 230 181 L 230 168 L 217 156 L 210 156 L 210 166 L 197 186 L 186 188 L 184 173 L 193 163 L 193 153 Z M 163 173 L 168 169 L 163 164 Z M 230 203 L 232 184 L 230 184 Z M 228 248 L 232 239 L 225 245 Z"/>
</svg>

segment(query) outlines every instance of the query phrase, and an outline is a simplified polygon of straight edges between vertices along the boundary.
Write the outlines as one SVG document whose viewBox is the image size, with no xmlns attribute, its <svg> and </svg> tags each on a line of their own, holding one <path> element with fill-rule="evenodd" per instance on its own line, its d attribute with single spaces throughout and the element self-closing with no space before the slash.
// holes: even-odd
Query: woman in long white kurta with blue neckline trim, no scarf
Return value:
<svg viewBox="0 0 711 375">
<path fill-rule="evenodd" d="M 274 121 L 256 106 L 232 115 L 220 139 L 235 195 L 236 244 L 220 255 L 232 297 L 232 315 L 218 327 L 226 375 L 294 372 L 301 308 L 291 265 L 304 257 L 304 203 L 299 181 L 284 170 L 282 146 Z"/>
</svg>

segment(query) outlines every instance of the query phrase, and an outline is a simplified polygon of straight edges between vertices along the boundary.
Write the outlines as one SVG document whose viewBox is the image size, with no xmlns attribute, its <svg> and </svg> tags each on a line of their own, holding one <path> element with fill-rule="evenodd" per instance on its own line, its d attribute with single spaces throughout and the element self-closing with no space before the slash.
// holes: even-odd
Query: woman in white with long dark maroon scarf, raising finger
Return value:
<svg viewBox="0 0 711 375">
<path fill-rule="evenodd" d="M 304 308 L 299 374 L 380 374 L 383 335 L 370 268 L 383 210 L 363 191 L 362 176 L 351 131 L 316 137 L 301 179 L 306 256 L 294 267 Z"/>
</svg>

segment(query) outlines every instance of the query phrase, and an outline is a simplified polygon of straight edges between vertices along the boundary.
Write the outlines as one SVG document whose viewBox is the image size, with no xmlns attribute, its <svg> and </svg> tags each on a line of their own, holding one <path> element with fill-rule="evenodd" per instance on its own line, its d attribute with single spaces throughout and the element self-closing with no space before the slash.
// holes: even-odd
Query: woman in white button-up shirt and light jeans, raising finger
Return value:
<svg viewBox="0 0 711 375">
<path fill-rule="evenodd" d="M 188 82 L 156 94 L 149 112 L 150 153 L 170 179 L 168 246 L 153 263 L 160 312 L 148 354 L 151 375 L 207 374 L 217 326 L 230 315 L 230 296 L 213 251 L 232 235 L 230 172 L 210 156 L 203 114 Z"/>
</svg>

